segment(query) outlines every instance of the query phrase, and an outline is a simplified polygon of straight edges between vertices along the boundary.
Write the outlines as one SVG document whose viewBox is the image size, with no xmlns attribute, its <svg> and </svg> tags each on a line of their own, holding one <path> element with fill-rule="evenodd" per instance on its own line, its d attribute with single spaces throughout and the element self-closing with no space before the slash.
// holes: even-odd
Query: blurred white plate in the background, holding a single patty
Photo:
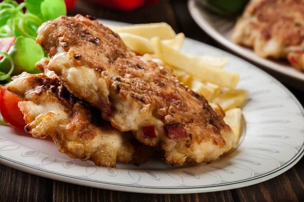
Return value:
<svg viewBox="0 0 304 202">
<path fill-rule="evenodd" d="M 252 49 L 242 47 L 234 43 L 231 40 L 231 36 L 236 23 L 235 20 L 226 19 L 207 12 L 202 8 L 202 6 L 200 6 L 199 3 L 197 3 L 196 0 L 188 1 L 188 10 L 196 23 L 220 44 L 261 66 L 304 82 L 304 73 L 295 70 L 287 62 L 275 62 L 261 58 L 256 55 Z"/>
</svg>

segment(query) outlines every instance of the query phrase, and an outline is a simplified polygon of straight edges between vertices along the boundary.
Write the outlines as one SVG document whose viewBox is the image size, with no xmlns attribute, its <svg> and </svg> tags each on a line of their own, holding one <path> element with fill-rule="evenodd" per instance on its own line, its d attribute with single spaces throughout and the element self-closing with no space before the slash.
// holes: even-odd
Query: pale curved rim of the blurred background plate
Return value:
<svg viewBox="0 0 304 202">
<path fill-rule="evenodd" d="M 200 17 L 201 10 L 196 6 L 197 4 L 197 0 L 188 0 L 187 7 L 189 13 L 191 14 L 196 24 L 218 43 L 225 46 L 226 48 L 229 48 L 235 54 L 238 54 L 250 60 L 251 62 L 258 63 L 265 68 L 274 70 L 278 73 L 284 74 L 285 76 L 290 76 L 297 80 L 304 81 L 304 73 L 296 71 L 291 66 L 290 68 L 282 67 L 281 65 L 278 65 L 270 60 L 259 57 L 255 53 L 244 52 L 244 47 L 227 40 L 222 34 L 210 26 L 210 24 L 205 19 Z"/>
</svg>

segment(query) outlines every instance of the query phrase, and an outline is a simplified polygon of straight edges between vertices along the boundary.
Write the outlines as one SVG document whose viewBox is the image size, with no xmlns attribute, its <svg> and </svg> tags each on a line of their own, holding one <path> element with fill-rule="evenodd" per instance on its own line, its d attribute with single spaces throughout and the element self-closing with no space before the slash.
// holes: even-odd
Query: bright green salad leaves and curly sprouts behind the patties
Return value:
<svg viewBox="0 0 304 202">
<path fill-rule="evenodd" d="M 23 12 L 23 9 L 26 12 Z M 23 71 L 39 73 L 35 63 L 47 56 L 36 44 L 37 29 L 42 23 L 66 16 L 64 0 L 25 0 L 18 4 L 12 0 L 0 3 L 0 38 L 17 37 L 8 53 L 0 61 L 0 81 L 10 81 L 12 75 Z"/>
</svg>

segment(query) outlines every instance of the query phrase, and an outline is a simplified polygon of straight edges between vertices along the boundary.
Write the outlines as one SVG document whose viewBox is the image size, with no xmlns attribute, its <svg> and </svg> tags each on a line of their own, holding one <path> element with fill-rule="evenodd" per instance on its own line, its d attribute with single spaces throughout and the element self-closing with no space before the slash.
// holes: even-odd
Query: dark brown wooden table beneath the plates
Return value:
<svg viewBox="0 0 304 202">
<path fill-rule="evenodd" d="M 77 13 L 128 23 L 166 22 L 176 32 L 218 47 L 191 18 L 186 1 L 165 0 L 155 7 L 118 12 L 78 0 L 70 15 Z M 289 89 L 303 105 L 303 93 Z M 0 201 L 304 201 L 303 167 L 302 159 L 278 177 L 239 189 L 195 194 L 141 194 L 59 182 L 0 165 Z"/>
</svg>

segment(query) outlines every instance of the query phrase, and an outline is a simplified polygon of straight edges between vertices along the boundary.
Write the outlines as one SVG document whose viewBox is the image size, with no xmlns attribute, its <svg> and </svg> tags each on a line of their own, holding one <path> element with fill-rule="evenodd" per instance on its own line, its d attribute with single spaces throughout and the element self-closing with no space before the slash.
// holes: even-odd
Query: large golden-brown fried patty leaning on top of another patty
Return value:
<svg viewBox="0 0 304 202">
<path fill-rule="evenodd" d="M 135 56 L 97 21 L 60 17 L 44 23 L 36 41 L 70 92 L 100 109 L 113 127 L 163 150 L 167 163 L 210 162 L 232 147 L 232 130 L 204 97 Z"/>
</svg>

